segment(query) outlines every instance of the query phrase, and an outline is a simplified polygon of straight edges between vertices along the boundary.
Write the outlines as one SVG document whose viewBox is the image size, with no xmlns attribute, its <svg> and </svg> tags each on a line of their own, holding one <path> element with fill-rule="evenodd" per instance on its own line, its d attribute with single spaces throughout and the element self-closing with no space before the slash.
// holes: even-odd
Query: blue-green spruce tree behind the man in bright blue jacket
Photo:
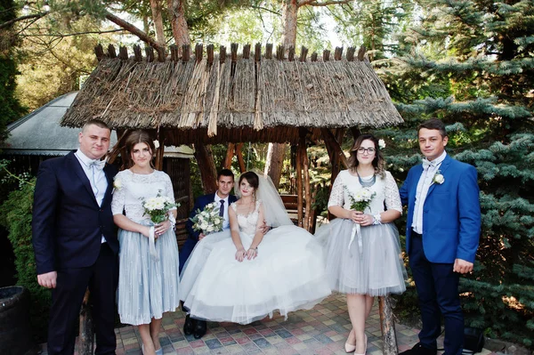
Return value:
<svg viewBox="0 0 534 355">
<path fill-rule="evenodd" d="M 447 151 L 476 166 L 482 230 L 475 272 L 461 279 L 466 323 L 534 343 L 534 2 L 418 0 L 419 25 L 380 62 L 407 121 L 389 136 L 403 180 L 417 164 L 417 125 L 447 125 Z M 397 171 L 394 171 L 394 168 Z"/>
</svg>

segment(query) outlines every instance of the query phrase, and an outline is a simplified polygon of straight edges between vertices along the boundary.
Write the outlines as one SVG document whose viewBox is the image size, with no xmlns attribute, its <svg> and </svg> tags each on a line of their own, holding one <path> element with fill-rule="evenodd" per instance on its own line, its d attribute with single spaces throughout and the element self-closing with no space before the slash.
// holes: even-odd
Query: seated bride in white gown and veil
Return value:
<svg viewBox="0 0 534 355">
<path fill-rule="evenodd" d="M 243 173 L 239 192 L 231 233 L 203 238 L 182 271 L 179 298 L 191 317 L 248 324 L 320 303 L 330 294 L 321 247 L 293 225 L 272 182 Z M 263 219 L 277 228 L 263 235 Z"/>
</svg>

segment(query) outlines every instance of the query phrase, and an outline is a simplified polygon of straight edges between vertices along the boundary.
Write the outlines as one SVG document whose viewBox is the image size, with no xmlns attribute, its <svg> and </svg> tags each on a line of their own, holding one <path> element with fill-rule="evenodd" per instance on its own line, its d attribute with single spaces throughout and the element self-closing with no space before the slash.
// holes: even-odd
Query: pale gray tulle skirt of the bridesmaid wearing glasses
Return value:
<svg viewBox="0 0 534 355">
<path fill-rule="evenodd" d="M 336 218 L 315 233 L 324 246 L 328 281 L 343 294 L 381 296 L 406 291 L 406 269 L 399 232 L 393 223 L 360 228 L 351 243 L 354 222 Z M 350 245 L 350 246 L 349 246 Z"/>
</svg>

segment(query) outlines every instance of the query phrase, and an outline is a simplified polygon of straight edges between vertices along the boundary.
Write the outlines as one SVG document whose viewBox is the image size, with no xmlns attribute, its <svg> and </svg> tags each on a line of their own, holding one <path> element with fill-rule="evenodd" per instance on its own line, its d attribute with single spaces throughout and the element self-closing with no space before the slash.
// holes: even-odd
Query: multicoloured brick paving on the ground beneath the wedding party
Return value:
<svg viewBox="0 0 534 355">
<path fill-rule="evenodd" d="M 164 354 L 345 354 L 344 343 L 351 324 L 343 294 L 334 294 L 310 311 L 295 311 L 287 320 L 279 315 L 247 326 L 208 322 L 207 334 L 196 340 L 182 333 L 182 311 L 167 313 L 159 334 Z M 396 326 L 399 351 L 417 343 L 418 329 Z M 115 329 L 117 355 L 141 355 L 136 327 Z M 377 302 L 367 321 L 368 355 L 382 354 L 382 334 Z M 45 346 L 43 345 L 43 349 Z M 46 351 L 42 351 L 45 355 Z M 484 350 L 481 355 L 495 355 Z"/>
</svg>

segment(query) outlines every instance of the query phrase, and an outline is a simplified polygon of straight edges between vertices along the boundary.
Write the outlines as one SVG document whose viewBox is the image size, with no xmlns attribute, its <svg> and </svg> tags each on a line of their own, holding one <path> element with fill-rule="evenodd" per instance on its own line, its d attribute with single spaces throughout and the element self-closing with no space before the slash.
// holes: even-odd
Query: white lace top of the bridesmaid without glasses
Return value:
<svg viewBox="0 0 534 355">
<path fill-rule="evenodd" d="M 154 170 L 154 173 L 148 175 L 123 170 L 115 177 L 114 185 L 117 186 L 118 184 L 120 184 L 120 188 L 114 189 L 111 211 L 113 214 L 122 214 L 125 210 L 126 217 L 134 222 L 150 220 L 150 217 L 144 214 L 143 198 L 153 198 L 161 193 L 162 196 L 174 200 L 171 178 L 158 170 Z"/>
</svg>

